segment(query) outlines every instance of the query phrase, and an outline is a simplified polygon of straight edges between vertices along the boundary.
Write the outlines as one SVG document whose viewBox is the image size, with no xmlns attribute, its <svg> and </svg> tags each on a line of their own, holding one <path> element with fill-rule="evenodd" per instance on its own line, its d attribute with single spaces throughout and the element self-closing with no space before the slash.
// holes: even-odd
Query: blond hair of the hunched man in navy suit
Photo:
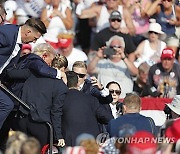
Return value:
<svg viewBox="0 0 180 154">
<path fill-rule="evenodd" d="M 43 54 L 55 55 L 55 50 L 48 43 L 40 43 L 37 46 L 35 46 L 35 48 L 33 49 L 33 53 L 41 57 Z"/>
</svg>

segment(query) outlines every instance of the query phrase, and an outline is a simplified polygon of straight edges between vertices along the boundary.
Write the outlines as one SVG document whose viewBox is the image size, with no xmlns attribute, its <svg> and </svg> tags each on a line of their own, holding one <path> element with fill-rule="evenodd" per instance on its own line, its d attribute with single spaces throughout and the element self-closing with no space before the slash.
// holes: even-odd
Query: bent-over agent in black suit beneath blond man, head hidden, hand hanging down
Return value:
<svg viewBox="0 0 180 154">
<path fill-rule="evenodd" d="M 15 76 L 16 73 L 20 72 L 14 71 Z M 67 86 L 62 80 L 43 77 L 28 69 L 21 70 L 21 75 L 29 76 L 23 85 L 21 99 L 30 106 L 30 112 L 18 120 L 18 130 L 36 137 L 44 146 L 49 143 L 49 128 L 46 125 L 49 122 L 54 129 L 54 140 L 63 146 L 61 115 Z"/>
</svg>

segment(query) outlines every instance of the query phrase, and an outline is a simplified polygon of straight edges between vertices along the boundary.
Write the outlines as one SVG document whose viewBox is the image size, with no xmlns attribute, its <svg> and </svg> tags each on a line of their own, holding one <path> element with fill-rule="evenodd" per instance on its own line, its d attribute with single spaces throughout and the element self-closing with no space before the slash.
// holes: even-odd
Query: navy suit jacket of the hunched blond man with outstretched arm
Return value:
<svg viewBox="0 0 180 154">
<path fill-rule="evenodd" d="M 27 76 L 22 76 L 22 69 L 30 69 L 38 75 L 54 79 L 57 75 L 56 69 L 49 67 L 46 62 L 36 54 L 30 53 L 20 57 L 16 69 L 7 70 L 8 77 L 12 79 L 13 83 L 9 85 L 9 88 L 18 97 L 21 97 L 22 87 L 27 79 Z M 17 73 L 18 70 L 20 72 L 19 74 Z"/>
</svg>

